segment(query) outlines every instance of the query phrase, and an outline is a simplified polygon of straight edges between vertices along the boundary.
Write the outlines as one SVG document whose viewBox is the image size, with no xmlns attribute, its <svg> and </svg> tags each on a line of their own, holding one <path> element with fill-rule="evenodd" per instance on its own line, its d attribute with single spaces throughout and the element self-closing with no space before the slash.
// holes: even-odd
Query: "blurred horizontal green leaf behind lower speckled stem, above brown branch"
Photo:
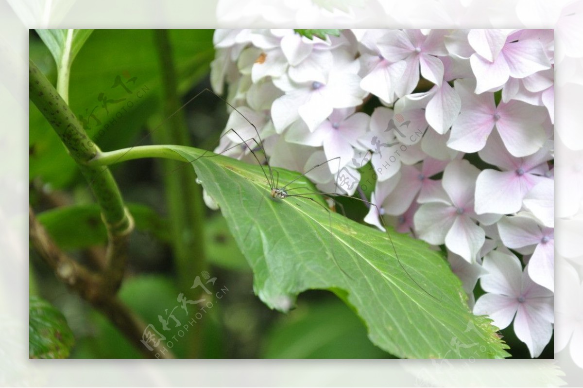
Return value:
<svg viewBox="0 0 583 388">
<path fill-rule="evenodd" d="M 136 229 L 152 233 L 161 241 L 170 240 L 166 220 L 152 208 L 128 204 Z M 107 242 L 107 230 L 101 221 L 97 204 L 72 205 L 47 210 L 38 215 L 38 221 L 62 249 L 78 249 Z"/>
</svg>

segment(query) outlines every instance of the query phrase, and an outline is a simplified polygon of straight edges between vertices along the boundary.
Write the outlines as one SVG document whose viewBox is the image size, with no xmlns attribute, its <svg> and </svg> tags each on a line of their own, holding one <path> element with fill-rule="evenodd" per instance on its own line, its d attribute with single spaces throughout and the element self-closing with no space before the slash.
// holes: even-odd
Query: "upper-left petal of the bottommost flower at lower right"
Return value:
<svg viewBox="0 0 583 388">
<path fill-rule="evenodd" d="M 521 296 L 522 265 L 514 254 L 491 251 L 484 257 L 482 268 L 487 272 L 480 278 L 480 285 L 484 291 L 509 298 Z"/>
</svg>

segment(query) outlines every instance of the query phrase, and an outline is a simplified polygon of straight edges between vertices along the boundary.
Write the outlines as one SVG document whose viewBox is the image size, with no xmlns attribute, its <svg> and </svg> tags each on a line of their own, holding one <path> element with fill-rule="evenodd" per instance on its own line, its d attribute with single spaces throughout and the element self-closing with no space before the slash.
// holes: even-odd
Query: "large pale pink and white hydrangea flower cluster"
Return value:
<svg viewBox="0 0 583 388">
<path fill-rule="evenodd" d="M 238 110 L 217 152 L 253 161 L 261 143 L 272 167 L 326 193 L 354 194 L 373 168 L 365 221 L 444 244 L 474 312 L 514 320 L 540 355 L 553 331 L 552 30 L 217 30 L 214 43 L 212 86 Z"/>
</svg>

